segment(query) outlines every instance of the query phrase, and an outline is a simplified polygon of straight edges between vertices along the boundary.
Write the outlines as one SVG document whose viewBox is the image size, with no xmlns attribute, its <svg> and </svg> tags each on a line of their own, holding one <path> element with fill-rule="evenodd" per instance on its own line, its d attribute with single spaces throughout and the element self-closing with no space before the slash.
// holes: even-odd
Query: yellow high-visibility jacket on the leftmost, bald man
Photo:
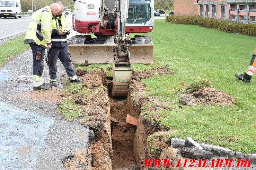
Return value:
<svg viewBox="0 0 256 170">
<path fill-rule="evenodd" d="M 51 45 L 51 21 L 52 11 L 49 6 L 37 10 L 32 15 L 32 20 L 29 23 L 24 43 L 36 43 L 46 49 L 47 45 Z"/>
</svg>

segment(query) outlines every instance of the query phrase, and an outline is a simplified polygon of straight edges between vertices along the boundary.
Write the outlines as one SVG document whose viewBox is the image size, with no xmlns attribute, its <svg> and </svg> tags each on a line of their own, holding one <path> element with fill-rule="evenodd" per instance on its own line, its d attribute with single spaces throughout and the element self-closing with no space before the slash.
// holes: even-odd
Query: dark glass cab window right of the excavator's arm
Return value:
<svg viewBox="0 0 256 170">
<path fill-rule="evenodd" d="M 150 18 L 150 0 L 129 0 L 127 23 L 145 24 Z"/>
</svg>

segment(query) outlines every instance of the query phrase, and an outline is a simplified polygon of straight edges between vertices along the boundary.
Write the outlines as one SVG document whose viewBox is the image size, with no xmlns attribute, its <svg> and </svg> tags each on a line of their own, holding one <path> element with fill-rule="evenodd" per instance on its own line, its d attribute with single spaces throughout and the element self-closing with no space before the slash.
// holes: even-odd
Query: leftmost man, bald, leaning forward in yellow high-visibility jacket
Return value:
<svg viewBox="0 0 256 170">
<path fill-rule="evenodd" d="M 49 89 L 50 86 L 44 83 L 41 78 L 44 69 L 44 52 L 50 49 L 51 43 L 51 21 L 61 10 L 58 3 L 52 3 L 37 10 L 32 15 L 24 43 L 29 44 L 33 54 L 33 89 Z"/>
</svg>

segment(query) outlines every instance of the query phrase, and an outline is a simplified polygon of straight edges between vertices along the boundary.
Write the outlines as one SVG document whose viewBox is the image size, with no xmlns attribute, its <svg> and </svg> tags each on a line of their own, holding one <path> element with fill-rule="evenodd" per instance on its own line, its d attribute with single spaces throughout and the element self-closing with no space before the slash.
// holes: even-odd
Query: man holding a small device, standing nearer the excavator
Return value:
<svg viewBox="0 0 256 170">
<path fill-rule="evenodd" d="M 57 60 L 60 59 L 61 63 L 65 67 L 65 70 L 69 76 L 69 80 L 71 83 L 80 82 L 81 79 L 77 78 L 75 68 L 72 64 L 72 58 L 69 53 L 68 48 L 68 37 L 70 34 L 71 25 L 64 14 L 62 14 L 64 10 L 63 2 L 56 2 L 61 6 L 61 11 L 53 17 L 52 20 L 52 48 L 49 50 L 50 52 L 50 64 L 49 66 L 49 74 L 50 74 L 50 86 L 57 86 Z"/>
</svg>

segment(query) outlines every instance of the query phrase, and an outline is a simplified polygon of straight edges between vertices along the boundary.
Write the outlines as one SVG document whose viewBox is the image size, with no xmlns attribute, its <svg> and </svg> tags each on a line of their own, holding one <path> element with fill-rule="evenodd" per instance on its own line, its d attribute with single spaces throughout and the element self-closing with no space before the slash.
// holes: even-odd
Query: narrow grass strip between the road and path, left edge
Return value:
<svg viewBox="0 0 256 170">
<path fill-rule="evenodd" d="M 25 34 L 0 45 L 0 67 L 8 62 L 12 57 L 29 48 L 28 44 L 23 43 L 24 38 Z"/>
</svg>

